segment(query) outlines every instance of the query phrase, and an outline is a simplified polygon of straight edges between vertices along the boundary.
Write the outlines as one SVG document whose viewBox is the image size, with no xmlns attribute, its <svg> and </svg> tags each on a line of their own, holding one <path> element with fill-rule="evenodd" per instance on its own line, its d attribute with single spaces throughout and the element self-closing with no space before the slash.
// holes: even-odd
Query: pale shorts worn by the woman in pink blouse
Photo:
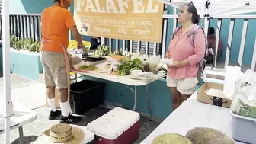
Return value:
<svg viewBox="0 0 256 144">
<path fill-rule="evenodd" d="M 167 76 L 167 86 L 177 88 L 177 90 L 184 95 L 192 95 L 197 89 L 197 78 L 184 78 L 184 79 L 173 79 Z"/>
</svg>

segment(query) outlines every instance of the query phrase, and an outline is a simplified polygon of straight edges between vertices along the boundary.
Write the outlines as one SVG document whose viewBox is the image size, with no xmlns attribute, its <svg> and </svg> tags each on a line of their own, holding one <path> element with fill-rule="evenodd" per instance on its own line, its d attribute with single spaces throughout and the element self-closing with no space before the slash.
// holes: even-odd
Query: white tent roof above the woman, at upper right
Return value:
<svg viewBox="0 0 256 144">
<path fill-rule="evenodd" d="M 210 17 L 216 15 L 233 15 L 256 12 L 256 0 L 158 0 L 167 5 L 180 8 L 185 3 L 193 2 L 196 6 L 198 14 L 209 14 Z M 206 4 L 208 9 L 206 9 Z"/>
</svg>

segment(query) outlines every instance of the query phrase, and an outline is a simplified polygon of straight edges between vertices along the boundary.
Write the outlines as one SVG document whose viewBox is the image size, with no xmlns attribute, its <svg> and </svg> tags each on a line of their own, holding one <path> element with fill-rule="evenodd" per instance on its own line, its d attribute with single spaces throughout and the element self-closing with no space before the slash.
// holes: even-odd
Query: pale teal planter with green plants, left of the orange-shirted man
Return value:
<svg viewBox="0 0 256 144">
<path fill-rule="evenodd" d="M 11 35 L 11 72 L 36 81 L 40 80 L 43 66 L 40 61 L 40 40 Z"/>
</svg>

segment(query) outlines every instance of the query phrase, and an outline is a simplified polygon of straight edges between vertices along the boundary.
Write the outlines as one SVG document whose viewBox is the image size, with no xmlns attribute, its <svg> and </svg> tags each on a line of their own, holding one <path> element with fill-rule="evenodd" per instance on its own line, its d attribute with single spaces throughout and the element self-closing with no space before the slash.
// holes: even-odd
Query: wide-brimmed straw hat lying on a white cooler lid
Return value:
<svg viewBox="0 0 256 144">
<path fill-rule="evenodd" d="M 65 123 L 52 126 L 37 138 L 40 144 L 78 144 L 85 138 L 85 133 L 78 127 L 72 127 Z"/>
</svg>

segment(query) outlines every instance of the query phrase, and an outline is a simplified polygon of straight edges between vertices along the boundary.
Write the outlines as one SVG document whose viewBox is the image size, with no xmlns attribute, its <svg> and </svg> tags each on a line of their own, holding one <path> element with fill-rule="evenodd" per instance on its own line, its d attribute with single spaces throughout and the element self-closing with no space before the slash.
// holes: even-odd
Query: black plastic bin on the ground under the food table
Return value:
<svg viewBox="0 0 256 144">
<path fill-rule="evenodd" d="M 74 114 L 83 114 L 102 104 L 104 99 L 103 82 L 82 80 L 70 85 L 70 107 Z"/>
</svg>

